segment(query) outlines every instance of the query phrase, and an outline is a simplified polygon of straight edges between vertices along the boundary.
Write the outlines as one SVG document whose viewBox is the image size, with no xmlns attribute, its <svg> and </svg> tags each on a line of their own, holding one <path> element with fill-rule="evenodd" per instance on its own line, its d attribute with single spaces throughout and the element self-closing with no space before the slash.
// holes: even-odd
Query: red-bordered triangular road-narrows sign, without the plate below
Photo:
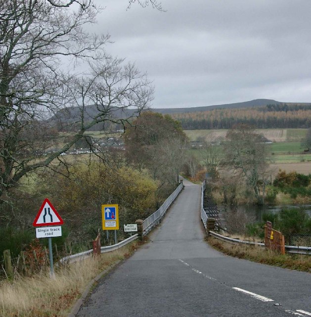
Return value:
<svg viewBox="0 0 311 317">
<path fill-rule="evenodd" d="M 64 221 L 51 202 L 46 198 L 33 222 L 34 227 L 63 224 Z"/>
</svg>

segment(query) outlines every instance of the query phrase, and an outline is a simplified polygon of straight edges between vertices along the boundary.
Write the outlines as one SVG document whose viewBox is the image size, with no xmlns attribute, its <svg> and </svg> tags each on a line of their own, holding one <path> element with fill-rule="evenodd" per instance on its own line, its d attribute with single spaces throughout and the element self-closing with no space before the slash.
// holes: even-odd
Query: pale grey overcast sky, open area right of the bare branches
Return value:
<svg viewBox="0 0 311 317">
<path fill-rule="evenodd" d="M 148 73 L 153 107 L 311 102 L 311 0 L 163 0 L 166 12 L 98 2 L 96 31 Z"/>
</svg>

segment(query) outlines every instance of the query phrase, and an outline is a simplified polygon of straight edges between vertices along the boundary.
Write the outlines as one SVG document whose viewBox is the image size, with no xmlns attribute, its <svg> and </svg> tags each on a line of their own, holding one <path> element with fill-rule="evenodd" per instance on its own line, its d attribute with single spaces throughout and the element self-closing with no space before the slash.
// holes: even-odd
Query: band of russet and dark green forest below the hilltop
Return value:
<svg viewBox="0 0 311 317">
<path fill-rule="evenodd" d="M 244 123 L 257 128 L 309 128 L 311 105 L 267 105 L 254 108 L 214 109 L 171 115 L 185 130 L 230 129 Z"/>
</svg>

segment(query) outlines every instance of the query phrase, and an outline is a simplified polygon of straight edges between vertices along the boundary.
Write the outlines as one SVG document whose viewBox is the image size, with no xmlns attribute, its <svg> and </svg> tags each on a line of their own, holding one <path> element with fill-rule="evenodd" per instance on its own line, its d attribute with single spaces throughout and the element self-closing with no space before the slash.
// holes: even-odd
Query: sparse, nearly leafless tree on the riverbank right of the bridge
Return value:
<svg viewBox="0 0 311 317">
<path fill-rule="evenodd" d="M 223 164 L 231 166 L 235 175 L 245 179 L 260 205 L 264 202 L 260 188 L 265 183 L 267 157 L 267 145 L 252 127 L 241 124 L 227 132 Z"/>
</svg>

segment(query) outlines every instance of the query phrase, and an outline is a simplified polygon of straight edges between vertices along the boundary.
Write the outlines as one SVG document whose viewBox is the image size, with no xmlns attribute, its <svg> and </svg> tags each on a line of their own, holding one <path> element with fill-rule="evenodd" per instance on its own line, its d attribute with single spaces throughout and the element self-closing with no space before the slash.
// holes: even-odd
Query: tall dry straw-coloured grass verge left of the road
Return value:
<svg viewBox="0 0 311 317">
<path fill-rule="evenodd" d="M 128 257 L 137 243 L 59 267 L 55 278 L 45 272 L 32 278 L 19 278 L 0 284 L 0 317 L 65 317 L 84 292 L 90 280 L 104 269 Z"/>
</svg>

